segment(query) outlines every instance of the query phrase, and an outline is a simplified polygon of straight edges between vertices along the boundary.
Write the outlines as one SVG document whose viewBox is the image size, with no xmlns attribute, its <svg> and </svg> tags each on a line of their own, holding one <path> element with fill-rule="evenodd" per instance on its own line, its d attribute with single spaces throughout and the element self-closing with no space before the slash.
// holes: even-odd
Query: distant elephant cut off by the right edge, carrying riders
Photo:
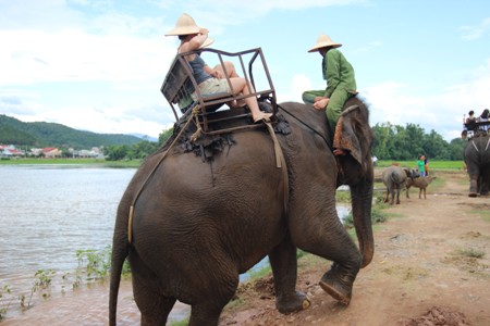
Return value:
<svg viewBox="0 0 490 326">
<path fill-rule="evenodd" d="M 469 175 L 469 197 L 488 195 L 490 190 L 490 135 L 478 135 L 468 140 L 464 160 Z"/>
</svg>

